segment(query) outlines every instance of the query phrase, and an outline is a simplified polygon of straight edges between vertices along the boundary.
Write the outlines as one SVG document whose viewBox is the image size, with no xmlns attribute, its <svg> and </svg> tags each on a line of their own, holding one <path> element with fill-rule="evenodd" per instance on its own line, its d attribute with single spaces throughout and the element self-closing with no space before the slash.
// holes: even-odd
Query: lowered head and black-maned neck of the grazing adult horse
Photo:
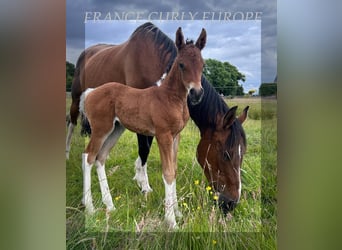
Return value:
<svg viewBox="0 0 342 250">
<path fill-rule="evenodd" d="M 246 135 L 242 123 L 249 106 L 236 117 L 237 106 L 229 108 L 222 97 L 202 76 L 204 96 L 197 105 L 188 100 L 191 119 L 201 133 L 197 160 L 210 185 L 218 194 L 224 214 L 232 211 L 240 200 L 240 167 L 246 152 Z"/>
</svg>

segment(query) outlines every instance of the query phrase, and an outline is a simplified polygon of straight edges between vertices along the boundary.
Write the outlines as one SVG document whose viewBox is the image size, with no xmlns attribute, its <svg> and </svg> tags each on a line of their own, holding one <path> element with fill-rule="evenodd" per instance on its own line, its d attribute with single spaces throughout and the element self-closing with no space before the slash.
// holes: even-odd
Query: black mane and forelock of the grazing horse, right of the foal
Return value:
<svg viewBox="0 0 342 250">
<path fill-rule="evenodd" d="M 202 101 L 197 105 L 191 105 L 188 100 L 189 112 L 192 120 L 197 127 L 217 129 L 217 116 L 224 116 L 228 110 L 228 105 L 221 96 L 211 86 L 207 79 L 202 75 L 201 84 L 204 89 Z M 231 135 L 227 138 L 226 144 L 232 148 L 238 144 L 238 136 L 242 136 L 243 143 L 246 145 L 246 135 L 240 122 L 236 119 L 230 127 Z"/>
</svg>

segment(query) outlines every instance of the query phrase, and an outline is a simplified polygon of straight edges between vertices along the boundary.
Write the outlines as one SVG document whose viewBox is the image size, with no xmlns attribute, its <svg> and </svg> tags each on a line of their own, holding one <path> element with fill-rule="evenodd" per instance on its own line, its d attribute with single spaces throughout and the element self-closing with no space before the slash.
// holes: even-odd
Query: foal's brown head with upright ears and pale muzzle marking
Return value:
<svg viewBox="0 0 342 250">
<path fill-rule="evenodd" d="M 203 88 L 201 85 L 201 76 L 204 66 L 204 61 L 201 55 L 201 50 L 204 48 L 207 41 L 207 33 L 202 29 L 196 43 L 193 41 L 184 41 L 182 29 L 179 27 L 176 33 L 176 46 L 178 55 L 175 59 L 175 64 L 181 71 L 182 82 L 185 88 L 189 91 L 189 99 L 193 105 L 199 103 L 203 97 Z"/>
</svg>

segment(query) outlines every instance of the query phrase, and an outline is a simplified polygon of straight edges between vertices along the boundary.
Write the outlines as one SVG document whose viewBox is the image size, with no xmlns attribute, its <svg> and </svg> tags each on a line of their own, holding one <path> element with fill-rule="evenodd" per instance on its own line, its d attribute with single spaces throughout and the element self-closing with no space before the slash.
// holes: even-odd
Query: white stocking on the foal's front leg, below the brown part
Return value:
<svg viewBox="0 0 342 250">
<path fill-rule="evenodd" d="M 175 218 L 175 189 L 176 189 L 176 180 L 173 180 L 171 184 L 168 184 L 163 175 L 163 181 L 165 185 L 165 221 L 168 223 L 170 228 L 176 228 L 176 218 Z"/>
</svg>

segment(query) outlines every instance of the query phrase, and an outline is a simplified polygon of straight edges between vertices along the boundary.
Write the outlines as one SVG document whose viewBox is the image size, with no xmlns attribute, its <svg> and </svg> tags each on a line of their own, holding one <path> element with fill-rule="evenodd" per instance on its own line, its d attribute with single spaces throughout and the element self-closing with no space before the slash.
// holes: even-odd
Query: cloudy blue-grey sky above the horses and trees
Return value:
<svg viewBox="0 0 342 250">
<path fill-rule="evenodd" d="M 126 41 L 153 12 L 154 20 L 151 21 L 171 39 L 174 39 L 177 28 L 182 27 L 184 36 L 195 40 L 204 27 L 207 31 L 207 45 L 202 51 L 203 57 L 228 61 L 235 65 L 246 76 L 246 81 L 241 82 L 245 92 L 258 89 L 261 82 L 272 82 L 277 74 L 275 1 L 259 1 L 258 5 L 249 0 L 230 1 L 230 5 L 227 4 L 228 1 L 210 0 L 203 3 L 200 0 L 176 0 L 172 5 L 169 1 L 163 0 L 120 2 L 98 0 L 96 3 L 88 1 L 84 4 L 84 1 L 79 0 L 67 1 L 67 61 L 75 64 L 81 51 L 91 45 L 120 44 Z M 88 21 L 85 23 L 86 12 Z M 101 14 L 96 21 L 95 12 Z M 115 12 L 121 17 L 130 12 L 127 16 L 130 20 L 113 20 Z M 184 12 L 183 20 L 170 20 L 171 12 L 176 13 L 178 19 L 182 19 L 181 15 Z M 189 12 L 192 15 L 197 12 L 194 18 L 197 20 L 189 20 Z M 224 14 L 221 15 L 221 20 L 218 20 L 220 12 L 236 14 L 236 20 L 222 20 Z M 261 16 L 261 20 L 245 20 L 248 12 L 254 17 Z M 112 20 L 104 21 L 108 13 Z M 212 13 L 215 15 L 214 20 Z M 138 15 L 140 16 L 137 18 Z M 206 18 L 203 18 L 204 15 Z"/>
</svg>

